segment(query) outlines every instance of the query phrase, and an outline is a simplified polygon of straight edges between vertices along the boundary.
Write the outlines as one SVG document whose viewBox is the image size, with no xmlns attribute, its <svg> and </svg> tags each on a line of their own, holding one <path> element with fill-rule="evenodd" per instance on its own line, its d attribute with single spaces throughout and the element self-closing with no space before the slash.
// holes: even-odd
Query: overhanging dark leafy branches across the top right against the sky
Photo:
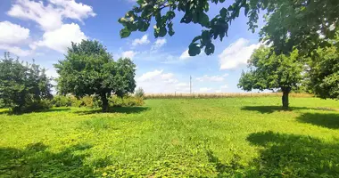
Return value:
<svg viewBox="0 0 339 178">
<path fill-rule="evenodd" d="M 337 0 L 236 0 L 227 8 L 220 8 L 214 18 L 207 15 L 211 4 L 222 4 L 225 0 L 137 0 L 137 6 L 128 11 L 119 22 L 124 28 L 121 37 L 133 31 L 145 32 L 155 19 L 154 36 L 174 35 L 173 19 L 176 12 L 183 12 L 180 23 L 202 26 L 202 34 L 194 37 L 188 53 L 195 56 L 204 52 L 214 53 L 212 40 L 227 36 L 231 23 L 240 12 L 248 17 L 249 29 L 258 28 L 260 10 L 264 11 L 266 24 L 260 29 L 260 40 L 273 44 L 277 54 L 291 53 L 297 48 L 300 53 L 310 53 L 319 46 L 328 45 L 335 38 L 339 27 L 339 1 Z M 221 6 L 221 5 L 220 5 Z M 322 37 L 319 37 L 321 34 Z"/>
</svg>

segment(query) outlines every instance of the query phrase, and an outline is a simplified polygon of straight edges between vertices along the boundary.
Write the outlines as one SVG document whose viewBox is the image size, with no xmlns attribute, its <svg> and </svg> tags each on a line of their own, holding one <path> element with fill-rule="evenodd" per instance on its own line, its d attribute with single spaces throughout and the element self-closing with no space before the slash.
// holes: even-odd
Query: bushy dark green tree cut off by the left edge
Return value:
<svg viewBox="0 0 339 178">
<path fill-rule="evenodd" d="M 10 53 L 4 53 L 4 59 L 0 60 L 0 99 L 13 112 L 39 109 L 41 100 L 52 97 L 50 81 L 45 69 L 37 64 L 24 65 L 18 59 L 13 60 Z"/>
</svg>

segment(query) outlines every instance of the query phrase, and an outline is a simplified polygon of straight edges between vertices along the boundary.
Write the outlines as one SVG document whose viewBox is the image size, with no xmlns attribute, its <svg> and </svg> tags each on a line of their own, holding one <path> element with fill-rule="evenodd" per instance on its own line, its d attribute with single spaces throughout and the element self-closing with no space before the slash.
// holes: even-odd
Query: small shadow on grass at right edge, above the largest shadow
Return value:
<svg viewBox="0 0 339 178">
<path fill-rule="evenodd" d="M 339 113 L 304 113 L 297 120 L 302 123 L 319 125 L 327 128 L 339 128 Z"/>
</svg>

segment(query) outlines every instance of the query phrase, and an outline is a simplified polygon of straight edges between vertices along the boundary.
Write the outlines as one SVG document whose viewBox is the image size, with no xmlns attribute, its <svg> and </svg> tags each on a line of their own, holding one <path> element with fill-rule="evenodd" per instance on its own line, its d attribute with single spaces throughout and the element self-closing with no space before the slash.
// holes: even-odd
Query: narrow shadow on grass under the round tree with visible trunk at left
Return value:
<svg viewBox="0 0 339 178">
<path fill-rule="evenodd" d="M 91 109 L 91 110 L 79 110 L 75 113 L 79 115 L 88 115 L 88 114 L 104 114 L 104 113 L 123 113 L 123 114 L 133 114 L 140 113 L 146 110 L 149 110 L 148 107 L 111 107 L 108 112 L 103 112 L 102 109 Z"/>
</svg>

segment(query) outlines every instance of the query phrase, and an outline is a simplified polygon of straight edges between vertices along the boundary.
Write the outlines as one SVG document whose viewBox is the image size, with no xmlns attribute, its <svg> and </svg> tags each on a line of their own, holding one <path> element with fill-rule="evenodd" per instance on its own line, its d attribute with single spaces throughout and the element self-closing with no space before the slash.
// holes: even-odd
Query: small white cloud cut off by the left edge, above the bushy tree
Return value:
<svg viewBox="0 0 339 178">
<path fill-rule="evenodd" d="M 29 38 L 29 29 L 9 21 L 0 22 L 0 44 L 20 44 Z"/>
</svg>

